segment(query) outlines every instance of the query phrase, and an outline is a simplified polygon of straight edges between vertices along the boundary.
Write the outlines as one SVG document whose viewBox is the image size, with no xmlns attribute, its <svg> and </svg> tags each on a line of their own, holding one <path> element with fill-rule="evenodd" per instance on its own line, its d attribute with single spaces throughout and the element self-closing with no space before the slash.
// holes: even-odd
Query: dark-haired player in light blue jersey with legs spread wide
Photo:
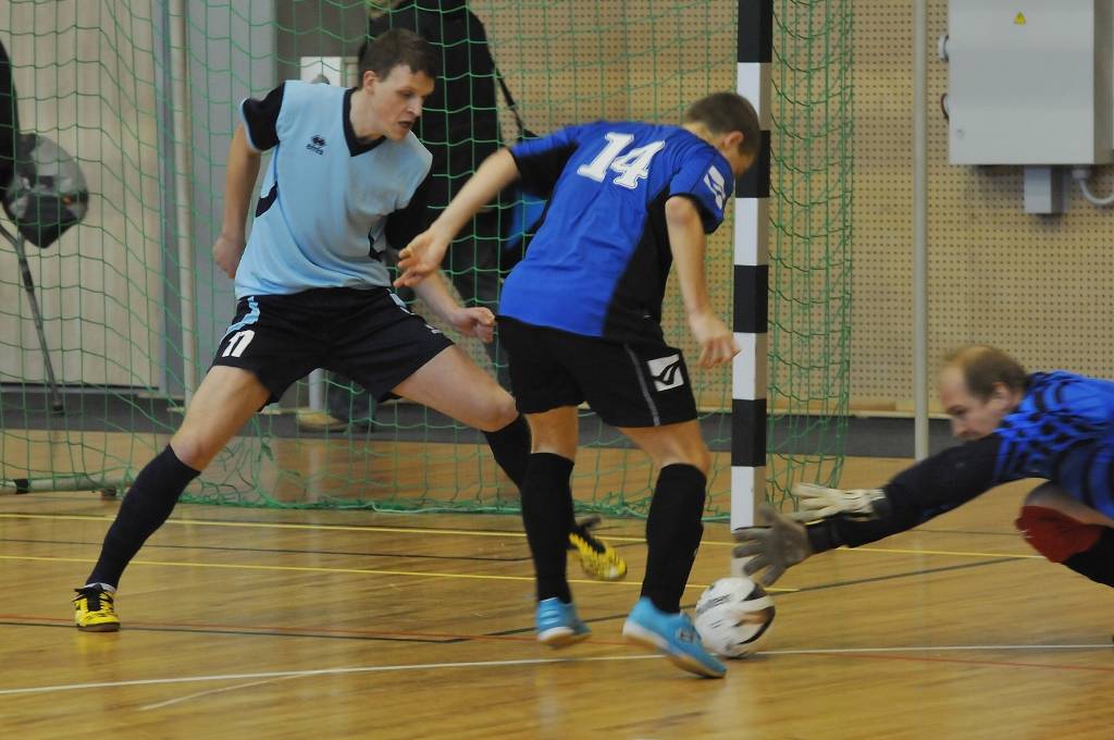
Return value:
<svg viewBox="0 0 1114 740">
<path fill-rule="evenodd" d="M 216 263 L 236 281 L 237 313 L 169 445 L 136 477 L 75 602 L 77 626 L 119 629 L 124 568 L 182 491 L 262 406 L 314 368 L 379 398 L 413 399 L 485 431 L 521 481 L 529 429 L 514 399 L 390 289 L 389 245 L 426 226 L 431 156 L 411 128 L 433 89 L 437 56 L 419 36 L 383 33 L 352 89 L 291 81 L 241 106 L 228 153 Z M 261 153 L 273 149 L 245 249 Z M 438 276 L 420 293 L 465 334 L 491 339 L 488 309 L 463 309 Z M 571 527 L 570 527 L 571 528 Z"/>
</svg>

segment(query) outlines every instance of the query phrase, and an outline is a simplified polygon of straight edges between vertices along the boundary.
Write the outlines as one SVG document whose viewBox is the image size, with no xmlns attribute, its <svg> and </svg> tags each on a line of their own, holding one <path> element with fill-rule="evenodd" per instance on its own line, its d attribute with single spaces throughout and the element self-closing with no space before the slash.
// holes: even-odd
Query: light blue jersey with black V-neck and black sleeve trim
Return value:
<svg viewBox="0 0 1114 740">
<path fill-rule="evenodd" d="M 241 104 L 250 145 L 263 150 L 274 144 L 270 138 L 277 145 L 236 271 L 237 299 L 390 285 L 382 262 L 388 216 L 411 205 L 432 156 L 412 133 L 401 142 L 356 139 L 349 121 L 352 93 L 287 81 L 267 96 L 281 108 L 277 117 L 264 114 L 263 124 L 245 109 L 255 104 L 257 111 L 258 101 Z M 422 225 L 416 223 L 414 233 Z"/>
</svg>

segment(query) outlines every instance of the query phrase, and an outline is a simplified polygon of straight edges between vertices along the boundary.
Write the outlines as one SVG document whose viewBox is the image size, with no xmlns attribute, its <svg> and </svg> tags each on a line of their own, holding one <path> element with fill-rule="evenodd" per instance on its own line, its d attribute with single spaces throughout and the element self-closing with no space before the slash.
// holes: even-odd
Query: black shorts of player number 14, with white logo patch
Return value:
<svg viewBox="0 0 1114 740">
<path fill-rule="evenodd" d="M 587 401 L 613 427 L 692 421 L 696 400 L 681 350 L 657 339 L 622 343 L 499 318 L 518 410 Z"/>
</svg>

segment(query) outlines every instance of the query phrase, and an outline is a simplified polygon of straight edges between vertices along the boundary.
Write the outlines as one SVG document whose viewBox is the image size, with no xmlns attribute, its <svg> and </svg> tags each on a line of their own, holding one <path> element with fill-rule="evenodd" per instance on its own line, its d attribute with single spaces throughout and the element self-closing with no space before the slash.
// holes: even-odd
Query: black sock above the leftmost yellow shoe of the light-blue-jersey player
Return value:
<svg viewBox="0 0 1114 740">
<path fill-rule="evenodd" d="M 170 516 L 189 481 L 199 475 L 180 461 L 169 445 L 148 463 L 124 497 L 116 520 L 105 535 L 100 558 L 86 583 L 106 583 L 116 587 L 124 568 L 147 537 Z"/>
</svg>

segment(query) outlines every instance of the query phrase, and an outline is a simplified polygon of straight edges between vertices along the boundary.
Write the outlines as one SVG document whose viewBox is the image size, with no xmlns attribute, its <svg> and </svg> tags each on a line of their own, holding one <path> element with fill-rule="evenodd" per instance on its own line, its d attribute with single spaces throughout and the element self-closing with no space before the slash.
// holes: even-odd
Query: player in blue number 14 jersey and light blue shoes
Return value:
<svg viewBox="0 0 1114 740">
<path fill-rule="evenodd" d="M 538 639 L 578 642 L 565 574 L 573 520 L 569 477 L 577 406 L 587 401 L 661 471 L 646 520 L 642 598 L 623 632 L 707 676 L 725 668 L 700 643 L 681 595 L 703 527 L 711 455 L 701 438 L 688 370 L 659 325 L 672 264 L 688 327 L 712 367 L 736 353 L 713 313 L 704 280 L 705 234 L 723 221 L 735 178 L 754 162 L 753 107 L 732 93 L 695 103 L 683 126 L 597 121 L 570 126 L 490 156 L 432 226 L 402 251 L 401 284 L 436 274 L 453 235 L 515 181 L 548 198 L 526 257 L 499 303 L 511 388 L 534 429 L 521 486 L 537 574 Z"/>
</svg>

